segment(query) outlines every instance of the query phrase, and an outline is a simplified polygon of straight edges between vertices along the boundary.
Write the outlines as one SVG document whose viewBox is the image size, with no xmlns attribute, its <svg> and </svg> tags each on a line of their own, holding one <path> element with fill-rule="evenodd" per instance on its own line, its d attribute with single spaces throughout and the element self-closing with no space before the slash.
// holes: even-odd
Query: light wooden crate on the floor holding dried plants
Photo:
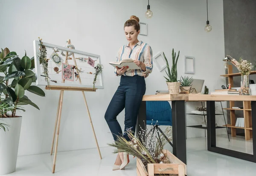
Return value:
<svg viewBox="0 0 256 176">
<path fill-rule="evenodd" d="M 176 174 L 177 176 L 187 175 L 186 164 L 180 161 L 168 150 L 163 150 L 166 158 L 171 164 L 148 164 L 148 171 L 140 159 L 137 158 L 137 176 L 154 176 L 155 174 Z"/>
</svg>

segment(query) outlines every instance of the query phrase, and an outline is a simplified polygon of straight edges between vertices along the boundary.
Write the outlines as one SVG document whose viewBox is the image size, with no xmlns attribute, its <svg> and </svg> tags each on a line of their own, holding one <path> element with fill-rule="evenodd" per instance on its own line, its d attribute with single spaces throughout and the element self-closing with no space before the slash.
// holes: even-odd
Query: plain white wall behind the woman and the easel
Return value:
<svg viewBox="0 0 256 176">
<path fill-rule="evenodd" d="M 150 0 L 152 19 L 144 16 L 147 0 L 1 0 L 0 47 L 8 47 L 18 55 L 24 55 L 26 50 L 32 57 L 33 40 L 40 36 L 47 43 L 61 46 L 70 39 L 76 49 L 100 55 L 105 66 L 105 89 L 87 92 L 86 97 L 99 146 L 105 147 L 113 138 L 104 114 L 119 85 L 119 77 L 113 74 L 113 67 L 108 62 L 115 61 L 118 48 L 127 43 L 123 25 L 131 15 L 148 23 L 148 36 L 140 35 L 139 40 L 151 45 L 154 55 L 163 51 L 171 61 L 172 48 L 176 52 L 180 50 L 178 77 L 185 75 L 183 56 L 189 55 L 195 57 L 193 78 L 205 79 L 209 91 L 224 84 L 224 78 L 220 77 L 224 74 L 222 0 L 210 0 L 208 5 L 212 32 L 206 33 L 205 0 Z M 164 72 L 158 72 L 154 67 L 146 78 L 146 95 L 154 94 L 157 89 L 167 89 L 163 75 Z M 45 92 L 46 97 L 26 93 L 41 110 L 27 105 L 26 112 L 19 114 L 23 116 L 20 156 L 50 151 L 59 91 Z M 187 125 L 201 123 L 202 119 L 201 116 L 188 117 Z M 118 121 L 123 128 L 124 112 Z M 217 122 L 224 124 L 223 120 Z M 204 130 L 187 128 L 187 132 L 187 137 L 204 136 Z M 217 132 L 225 133 L 225 130 Z M 81 92 L 64 92 L 58 151 L 94 147 L 96 144 Z"/>
</svg>

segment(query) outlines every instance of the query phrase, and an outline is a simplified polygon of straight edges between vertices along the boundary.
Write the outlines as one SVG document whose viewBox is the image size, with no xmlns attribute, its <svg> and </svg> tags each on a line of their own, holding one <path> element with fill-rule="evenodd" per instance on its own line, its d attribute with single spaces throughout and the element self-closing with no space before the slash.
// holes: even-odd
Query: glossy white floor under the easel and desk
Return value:
<svg viewBox="0 0 256 176">
<path fill-rule="evenodd" d="M 232 148 L 252 154 L 252 141 L 243 137 L 227 135 L 217 137 L 217 146 Z M 166 146 L 172 151 L 171 147 Z M 53 156 L 49 153 L 32 156 L 20 156 L 17 170 L 8 176 L 136 176 L 136 159 L 130 157 L 130 163 L 124 170 L 112 171 L 116 155 L 113 148 L 100 148 L 102 160 L 96 149 L 58 152 L 55 173 L 52 173 Z M 256 163 L 247 162 L 229 156 L 207 151 L 206 138 L 187 139 L 188 176 L 250 176 L 256 173 Z"/>
</svg>

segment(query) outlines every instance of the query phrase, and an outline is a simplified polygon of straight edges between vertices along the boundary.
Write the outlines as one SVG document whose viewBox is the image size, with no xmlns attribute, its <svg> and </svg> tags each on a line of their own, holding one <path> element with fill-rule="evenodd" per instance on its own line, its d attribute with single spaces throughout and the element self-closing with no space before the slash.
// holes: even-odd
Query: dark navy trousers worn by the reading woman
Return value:
<svg viewBox="0 0 256 176">
<path fill-rule="evenodd" d="M 117 140 L 117 136 L 123 136 L 127 141 L 130 141 L 126 133 L 122 135 L 122 129 L 116 120 L 116 116 L 125 108 L 124 131 L 131 128 L 134 133 L 140 104 L 145 91 L 144 77 L 138 75 L 121 76 L 119 87 L 113 95 L 105 113 L 105 120 L 115 141 Z"/>
</svg>

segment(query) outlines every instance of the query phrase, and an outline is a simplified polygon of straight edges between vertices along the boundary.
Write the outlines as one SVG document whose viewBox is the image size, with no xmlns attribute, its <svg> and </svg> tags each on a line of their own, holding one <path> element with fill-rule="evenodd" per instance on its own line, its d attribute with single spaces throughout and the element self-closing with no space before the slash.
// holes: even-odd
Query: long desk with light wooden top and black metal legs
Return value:
<svg viewBox="0 0 256 176">
<path fill-rule="evenodd" d="M 204 95 L 204 94 L 159 94 L 144 95 L 137 119 L 137 133 L 145 130 L 146 101 L 172 101 L 173 154 L 186 164 L 185 101 L 207 102 L 207 150 L 227 156 L 256 162 L 256 130 L 253 130 L 253 155 L 216 147 L 215 101 L 251 101 L 252 126 L 256 128 L 255 95 Z M 140 127 L 139 127 L 140 126 Z"/>
</svg>

